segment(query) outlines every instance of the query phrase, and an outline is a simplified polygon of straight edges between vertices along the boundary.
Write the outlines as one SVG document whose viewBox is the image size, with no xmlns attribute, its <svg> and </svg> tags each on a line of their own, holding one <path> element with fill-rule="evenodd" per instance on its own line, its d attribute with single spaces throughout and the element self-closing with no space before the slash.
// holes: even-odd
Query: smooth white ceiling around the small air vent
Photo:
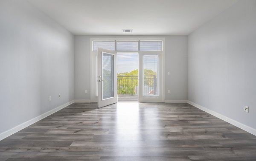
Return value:
<svg viewBox="0 0 256 161">
<path fill-rule="evenodd" d="M 75 35 L 188 35 L 238 0 L 28 1 Z"/>
</svg>

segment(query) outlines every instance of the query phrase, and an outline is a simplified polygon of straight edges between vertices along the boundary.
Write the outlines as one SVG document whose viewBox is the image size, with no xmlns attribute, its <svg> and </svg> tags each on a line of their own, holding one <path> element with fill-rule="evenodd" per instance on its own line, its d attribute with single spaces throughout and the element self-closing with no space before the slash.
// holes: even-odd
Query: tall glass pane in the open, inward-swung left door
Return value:
<svg viewBox="0 0 256 161">
<path fill-rule="evenodd" d="M 114 96 L 114 56 L 102 53 L 102 99 Z"/>
</svg>

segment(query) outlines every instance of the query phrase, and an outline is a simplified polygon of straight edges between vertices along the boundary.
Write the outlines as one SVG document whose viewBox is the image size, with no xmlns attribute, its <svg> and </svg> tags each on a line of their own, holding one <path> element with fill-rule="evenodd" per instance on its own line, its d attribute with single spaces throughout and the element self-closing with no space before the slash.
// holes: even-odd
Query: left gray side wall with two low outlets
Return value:
<svg viewBox="0 0 256 161">
<path fill-rule="evenodd" d="M 74 36 L 26 1 L 1 0 L 0 133 L 73 99 Z"/>
</svg>

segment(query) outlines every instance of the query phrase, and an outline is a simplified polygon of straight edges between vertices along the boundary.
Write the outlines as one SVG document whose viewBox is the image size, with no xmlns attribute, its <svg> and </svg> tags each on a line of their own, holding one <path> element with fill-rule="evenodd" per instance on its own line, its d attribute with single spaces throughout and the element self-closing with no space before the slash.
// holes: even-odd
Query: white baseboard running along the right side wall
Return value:
<svg viewBox="0 0 256 161">
<path fill-rule="evenodd" d="M 198 104 L 196 104 L 194 102 L 191 102 L 189 100 L 187 101 L 187 103 L 189 103 L 190 105 L 195 106 L 195 107 L 199 108 L 200 110 L 203 110 L 203 111 L 205 111 L 205 112 L 207 112 L 207 113 L 209 113 L 209 114 L 211 114 L 211 115 L 213 115 L 215 117 L 218 117 L 219 119 L 222 119 L 222 120 L 224 120 L 224 121 L 226 121 L 226 122 L 228 122 L 230 124 L 233 124 L 234 126 L 239 127 L 240 129 L 243 129 L 244 131 L 247 131 L 248 133 L 251 133 L 251 134 L 256 136 L 256 129 L 253 129 L 252 127 L 249 127 L 249 126 L 247 126 L 245 124 L 242 124 L 242 123 L 240 123 L 240 122 L 238 122 L 236 120 L 230 119 L 229 117 L 226 117 L 224 115 L 216 113 L 216 112 L 214 112 L 212 110 L 209 110 L 206 107 L 198 105 Z"/>
</svg>

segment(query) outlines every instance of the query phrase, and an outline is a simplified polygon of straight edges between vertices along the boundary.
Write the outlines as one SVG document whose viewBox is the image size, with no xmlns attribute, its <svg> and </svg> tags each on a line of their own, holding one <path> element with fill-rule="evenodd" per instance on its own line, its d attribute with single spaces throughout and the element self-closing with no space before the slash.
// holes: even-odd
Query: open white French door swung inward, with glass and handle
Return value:
<svg viewBox="0 0 256 161">
<path fill-rule="evenodd" d="M 98 107 L 117 102 L 116 52 L 98 48 Z"/>
</svg>

